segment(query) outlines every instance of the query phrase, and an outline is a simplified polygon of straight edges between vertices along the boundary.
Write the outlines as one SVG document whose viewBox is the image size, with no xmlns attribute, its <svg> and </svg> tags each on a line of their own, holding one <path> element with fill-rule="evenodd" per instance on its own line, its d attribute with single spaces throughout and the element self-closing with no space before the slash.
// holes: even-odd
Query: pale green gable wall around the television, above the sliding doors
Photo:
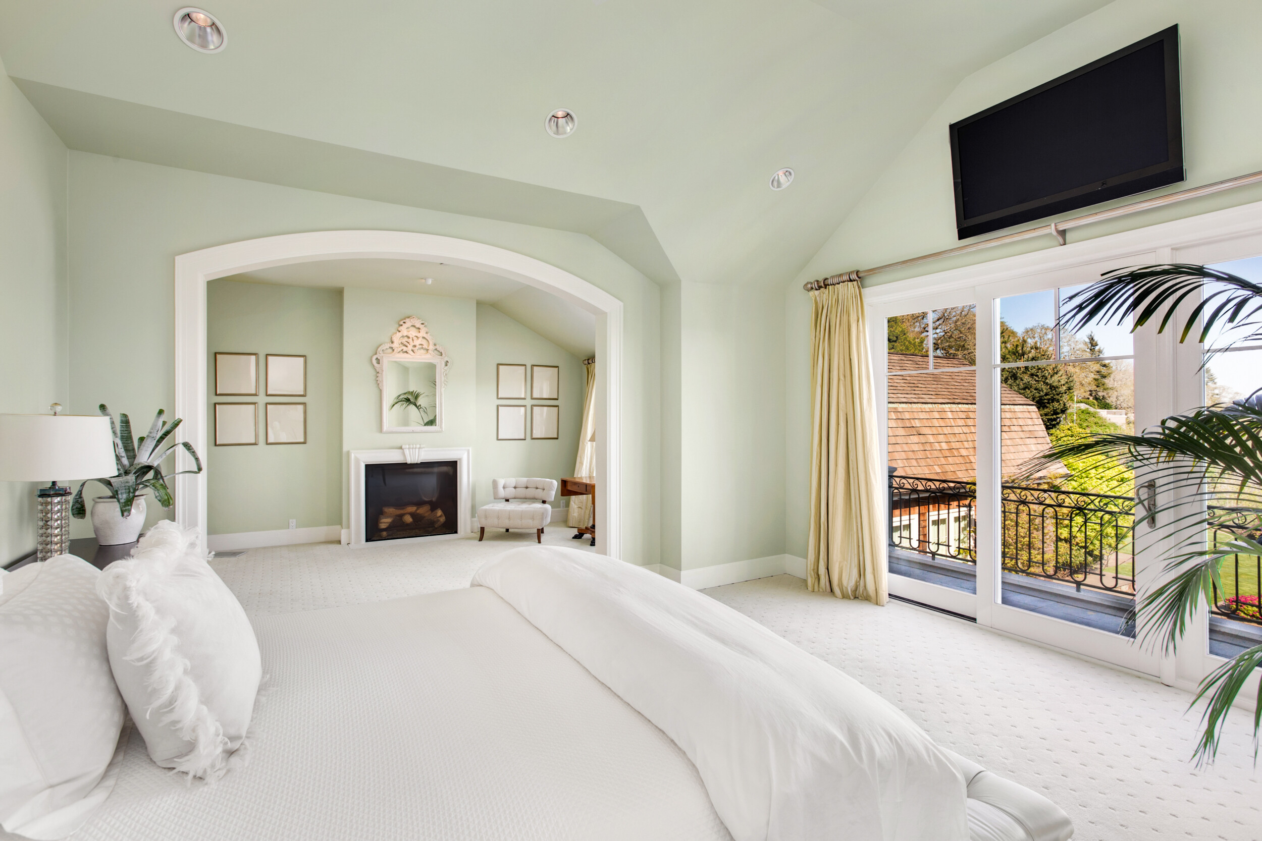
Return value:
<svg viewBox="0 0 1262 841">
<path fill-rule="evenodd" d="M 925 122 L 785 291 L 787 368 L 787 551 L 806 552 L 810 300 L 801 284 L 959 245 L 948 126 L 1143 37 L 1179 24 L 1188 180 L 1174 192 L 1262 169 L 1262 4 L 1254 0 L 1117 0 L 967 77 Z M 1262 187 L 1184 202 L 1080 228 L 1099 237 L 1262 199 Z M 1118 199 L 1111 207 L 1136 200 Z M 1078 216 L 1074 211 L 1060 217 Z M 996 236 L 996 235 L 987 235 Z M 984 237 L 978 237 L 984 238 Z M 1012 253 L 1054 247 L 1026 241 L 872 279 L 885 284 Z M 864 285 L 870 285 L 864 282 Z"/>
</svg>

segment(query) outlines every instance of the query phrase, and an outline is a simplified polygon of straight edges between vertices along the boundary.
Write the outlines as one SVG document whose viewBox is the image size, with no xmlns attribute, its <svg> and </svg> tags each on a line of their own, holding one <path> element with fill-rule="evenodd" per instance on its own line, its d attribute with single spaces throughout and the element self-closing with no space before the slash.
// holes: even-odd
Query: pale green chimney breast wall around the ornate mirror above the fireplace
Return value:
<svg viewBox="0 0 1262 841">
<path fill-rule="evenodd" d="M 477 450 L 477 303 L 464 298 L 413 295 L 379 289 L 346 289 L 342 314 L 342 475 L 351 450 L 387 450 L 404 444 L 471 446 Z M 390 340 L 399 322 L 415 315 L 452 364 L 443 386 L 442 432 L 382 432 L 381 390 L 372 354 Z M 472 512 L 464 512 L 472 516 Z M 348 527 L 350 499 L 342 501 Z"/>
</svg>

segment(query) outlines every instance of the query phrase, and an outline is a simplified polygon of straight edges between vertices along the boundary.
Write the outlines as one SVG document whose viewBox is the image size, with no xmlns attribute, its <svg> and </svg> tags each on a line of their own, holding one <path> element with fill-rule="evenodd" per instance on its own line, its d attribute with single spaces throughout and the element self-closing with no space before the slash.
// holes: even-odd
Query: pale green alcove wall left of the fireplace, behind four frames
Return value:
<svg viewBox="0 0 1262 841">
<path fill-rule="evenodd" d="M 342 290 L 212 280 L 206 290 L 207 532 L 342 522 Z M 215 353 L 257 353 L 259 396 L 216 397 Z M 307 396 L 268 397 L 268 353 L 307 357 Z M 257 402 L 259 444 L 215 446 L 215 403 Z M 307 443 L 269 445 L 266 403 L 307 403 Z"/>
</svg>

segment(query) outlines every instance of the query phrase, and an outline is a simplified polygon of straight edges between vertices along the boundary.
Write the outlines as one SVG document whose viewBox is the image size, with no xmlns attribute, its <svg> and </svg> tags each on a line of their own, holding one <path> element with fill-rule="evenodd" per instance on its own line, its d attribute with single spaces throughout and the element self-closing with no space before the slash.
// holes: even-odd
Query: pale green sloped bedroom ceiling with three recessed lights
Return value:
<svg viewBox="0 0 1262 841">
<path fill-rule="evenodd" d="M 74 149 L 579 231 L 661 282 L 782 282 L 960 78 L 1102 5 L 213 0 L 207 55 L 151 0 L 3 0 L 0 57 Z"/>
</svg>

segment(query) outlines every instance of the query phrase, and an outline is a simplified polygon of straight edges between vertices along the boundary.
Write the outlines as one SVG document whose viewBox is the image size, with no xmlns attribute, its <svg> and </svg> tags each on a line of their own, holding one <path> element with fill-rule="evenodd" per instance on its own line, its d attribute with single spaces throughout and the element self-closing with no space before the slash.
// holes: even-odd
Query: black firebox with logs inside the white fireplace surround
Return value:
<svg viewBox="0 0 1262 841">
<path fill-rule="evenodd" d="M 366 464 L 363 540 L 454 535 L 457 467 L 457 461 Z"/>
</svg>

